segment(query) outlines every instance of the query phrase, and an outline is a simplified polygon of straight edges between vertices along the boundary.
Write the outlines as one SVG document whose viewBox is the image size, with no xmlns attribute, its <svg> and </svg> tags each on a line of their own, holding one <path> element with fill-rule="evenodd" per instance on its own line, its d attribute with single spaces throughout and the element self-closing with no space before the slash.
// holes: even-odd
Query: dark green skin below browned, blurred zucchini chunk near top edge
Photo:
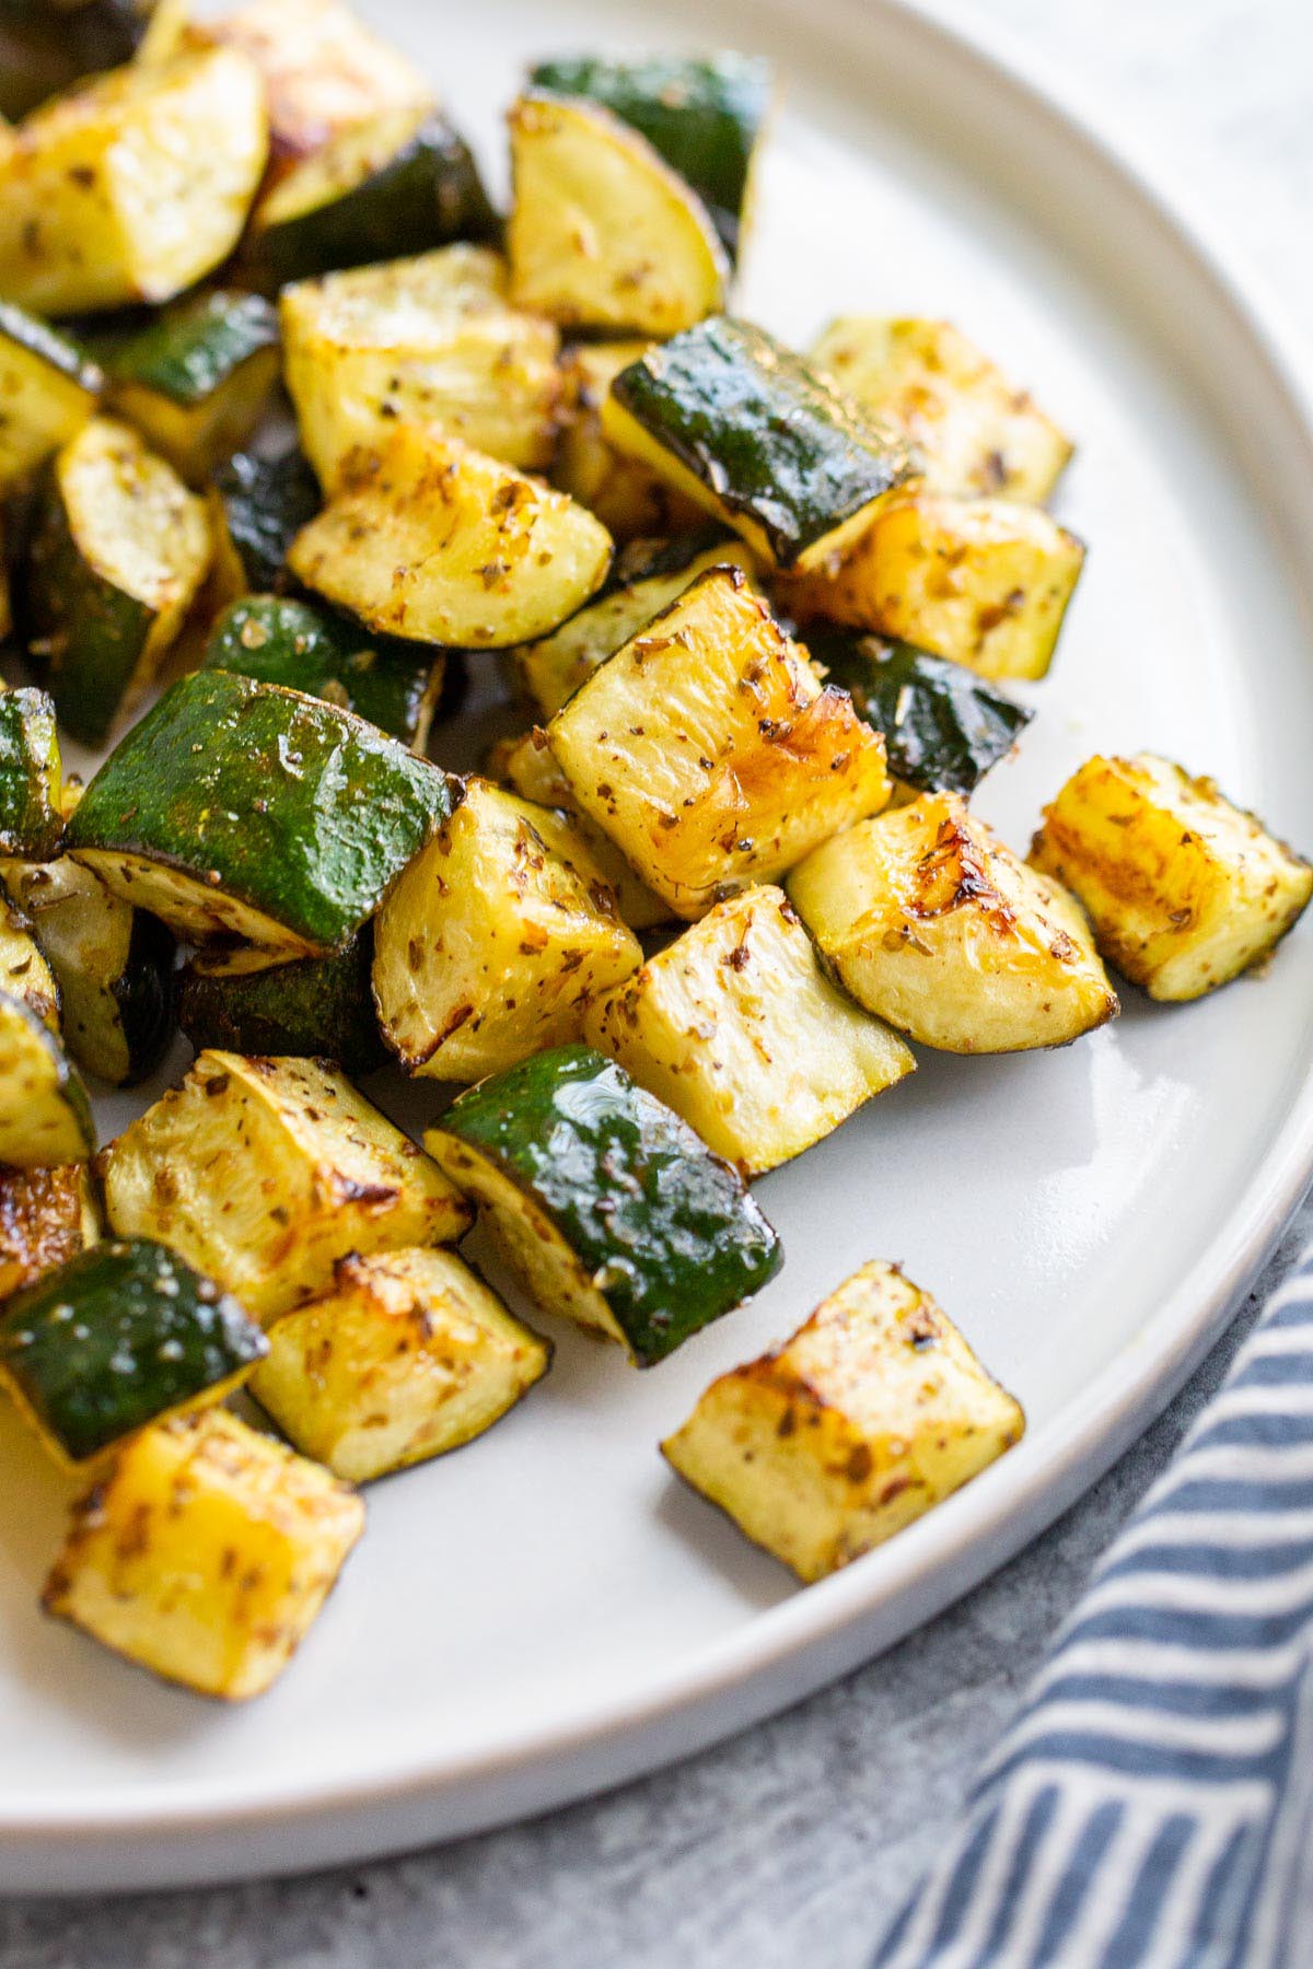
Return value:
<svg viewBox="0 0 1313 1969">
<path fill-rule="evenodd" d="M 262 284 L 283 287 L 453 240 L 490 240 L 498 230 L 469 144 L 435 112 L 388 163 L 350 191 L 256 230 L 250 264 Z"/>
</svg>

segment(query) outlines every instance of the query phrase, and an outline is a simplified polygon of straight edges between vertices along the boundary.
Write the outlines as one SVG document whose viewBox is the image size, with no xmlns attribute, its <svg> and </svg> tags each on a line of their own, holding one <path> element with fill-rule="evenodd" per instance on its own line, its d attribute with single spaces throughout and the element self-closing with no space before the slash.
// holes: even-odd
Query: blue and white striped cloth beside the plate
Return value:
<svg viewBox="0 0 1313 1969">
<path fill-rule="evenodd" d="M 1112 1544 L 874 1969 L 1313 1965 L 1313 1250 Z"/>
</svg>

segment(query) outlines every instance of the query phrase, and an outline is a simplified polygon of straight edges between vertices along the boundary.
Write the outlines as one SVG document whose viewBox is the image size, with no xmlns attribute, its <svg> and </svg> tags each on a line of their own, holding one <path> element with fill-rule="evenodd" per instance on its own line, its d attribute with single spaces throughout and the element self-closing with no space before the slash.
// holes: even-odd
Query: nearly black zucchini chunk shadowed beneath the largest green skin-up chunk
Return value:
<svg viewBox="0 0 1313 1969">
<path fill-rule="evenodd" d="M 268 971 L 183 969 L 179 1026 L 203 1053 L 297 1055 L 335 1059 L 344 1073 L 374 1073 L 388 1063 L 378 1030 L 370 965 L 372 925 L 335 957 L 297 957 Z"/>
</svg>

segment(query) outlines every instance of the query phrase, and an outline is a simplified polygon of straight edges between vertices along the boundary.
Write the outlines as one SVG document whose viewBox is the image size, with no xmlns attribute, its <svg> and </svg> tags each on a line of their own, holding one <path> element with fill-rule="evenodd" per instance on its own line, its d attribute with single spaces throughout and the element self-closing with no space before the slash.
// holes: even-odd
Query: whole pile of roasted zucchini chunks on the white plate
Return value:
<svg viewBox="0 0 1313 1969">
<path fill-rule="evenodd" d="M 1309 900 L 1148 754 L 1026 858 L 976 817 L 1081 575 L 1071 445 L 947 323 L 728 311 L 772 96 L 543 61 L 500 215 L 339 0 L 0 16 L 0 1376 L 93 1475 L 45 1605 L 195 1689 L 264 1689 L 354 1487 L 547 1372 L 476 1217 L 648 1366 L 774 1276 L 748 1183 L 907 1042 L 1063 1046 L 1104 963 L 1195 998 Z M 461 778 L 470 675 L 522 717 Z M 83 1075 L 179 1028 L 98 1146 Z M 423 1148 L 386 1063 L 465 1083 Z M 815 1579 L 1022 1428 L 872 1260 L 663 1449 Z"/>
</svg>

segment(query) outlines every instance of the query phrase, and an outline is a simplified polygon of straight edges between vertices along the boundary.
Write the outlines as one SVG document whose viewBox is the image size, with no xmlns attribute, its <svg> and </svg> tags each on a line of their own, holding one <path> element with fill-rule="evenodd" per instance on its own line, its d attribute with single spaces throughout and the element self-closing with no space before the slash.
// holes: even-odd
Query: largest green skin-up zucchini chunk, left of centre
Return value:
<svg viewBox="0 0 1313 1969">
<path fill-rule="evenodd" d="M 67 845 L 191 941 L 341 951 L 451 811 L 451 786 L 350 711 L 226 669 L 169 685 L 94 776 Z"/>
</svg>

